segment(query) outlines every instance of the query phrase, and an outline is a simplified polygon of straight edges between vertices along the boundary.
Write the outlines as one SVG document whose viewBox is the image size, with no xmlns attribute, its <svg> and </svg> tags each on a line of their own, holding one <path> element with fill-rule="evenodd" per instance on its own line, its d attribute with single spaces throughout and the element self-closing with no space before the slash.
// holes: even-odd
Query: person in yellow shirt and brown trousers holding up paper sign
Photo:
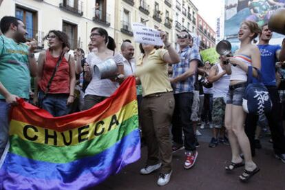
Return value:
<svg viewBox="0 0 285 190">
<path fill-rule="evenodd" d="M 168 78 L 168 64 L 180 62 L 176 50 L 168 42 L 166 32 L 160 32 L 165 49 L 140 44 L 142 57 L 136 65 L 136 75 L 142 84 L 140 119 L 142 136 L 147 143 L 147 164 L 140 174 L 160 170 L 158 185 L 167 185 L 171 176 L 171 139 L 169 126 L 174 110 L 173 90 Z M 160 163 L 161 160 L 161 163 Z"/>
</svg>

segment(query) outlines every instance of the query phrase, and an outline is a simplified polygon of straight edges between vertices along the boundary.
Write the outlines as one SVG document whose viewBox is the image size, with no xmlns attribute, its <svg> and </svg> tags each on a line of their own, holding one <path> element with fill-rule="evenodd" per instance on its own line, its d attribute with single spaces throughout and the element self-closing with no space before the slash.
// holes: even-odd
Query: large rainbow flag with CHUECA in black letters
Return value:
<svg viewBox="0 0 285 190">
<path fill-rule="evenodd" d="M 19 103 L 0 189 L 86 189 L 140 158 L 134 77 L 93 108 L 63 117 Z"/>
</svg>

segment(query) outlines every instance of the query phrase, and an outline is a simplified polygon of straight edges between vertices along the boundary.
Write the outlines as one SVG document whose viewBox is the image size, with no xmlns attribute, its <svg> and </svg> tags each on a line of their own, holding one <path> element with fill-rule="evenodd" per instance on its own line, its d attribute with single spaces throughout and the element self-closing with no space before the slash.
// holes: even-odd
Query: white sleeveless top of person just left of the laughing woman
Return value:
<svg viewBox="0 0 285 190">
<path fill-rule="evenodd" d="M 223 72 L 220 63 L 215 64 L 218 67 L 218 74 Z M 224 74 L 222 78 L 213 82 L 213 97 L 226 97 L 229 91 L 230 75 Z"/>
</svg>

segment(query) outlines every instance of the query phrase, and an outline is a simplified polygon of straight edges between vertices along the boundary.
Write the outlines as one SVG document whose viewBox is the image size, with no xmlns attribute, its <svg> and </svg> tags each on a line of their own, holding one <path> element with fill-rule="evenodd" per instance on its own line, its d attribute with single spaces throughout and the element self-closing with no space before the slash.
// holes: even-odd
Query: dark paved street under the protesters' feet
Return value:
<svg viewBox="0 0 285 190">
<path fill-rule="evenodd" d="M 228 164 L 231 158 L 229 146 L 218 145 L 218 147 L 208 147 L 211 139 L 209 129 L 200 130 L 200 147 L 198 147 L 198 161 L 189 170 L 183 168 L 184 152 L 173 154 L 173 174 L 168 185 L 158 187 L 158 171 L 148 176 L 139 174 L 139 170 L 144 166 L 147 154 L 146 147 L 142 147 L 142 156 L 136 163 L 128 165 L 120 171 L 120 174 L 109 177 L 105 182 L 92 189 L 285 189 L 285 164 L 278 161 L 273 156 L 269 137 L 262 138 L 261 150 L 257 150 L 254 161 L 260 167 L 257 173 L 247 183 L 241 183 L 238 176 L 242 174 L 242 168 L 235 169 L 232 174 L 224 171 L 224 165 Z"/>
</svg>

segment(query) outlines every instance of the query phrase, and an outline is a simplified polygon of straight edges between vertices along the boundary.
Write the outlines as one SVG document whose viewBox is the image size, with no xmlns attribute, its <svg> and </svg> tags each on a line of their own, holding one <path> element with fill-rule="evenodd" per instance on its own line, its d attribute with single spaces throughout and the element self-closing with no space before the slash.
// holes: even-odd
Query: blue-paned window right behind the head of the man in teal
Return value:
<svg viewBox="0 0 285 190">
<path fill-rule="evenodd" d="M 36 11 L 26 10 L 22 7 L 16 7 L 16 17 L 18 19 L 21 19 L 25 24 L 28 32 L 27 38 L 32 39 L 36 38 L 36 36 L 39 35 L 37 34 L 38 13 Z"/>
</svg>

